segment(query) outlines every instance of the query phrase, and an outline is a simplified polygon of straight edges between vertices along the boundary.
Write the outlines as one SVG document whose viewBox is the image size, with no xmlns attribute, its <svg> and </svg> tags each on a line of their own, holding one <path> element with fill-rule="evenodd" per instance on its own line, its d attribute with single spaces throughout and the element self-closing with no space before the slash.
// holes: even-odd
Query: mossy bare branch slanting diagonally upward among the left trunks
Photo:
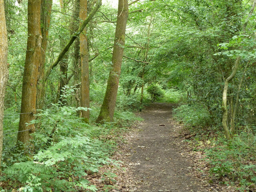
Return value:
<svg viewBox="0 0 256 192">
<path fill-rule="evenodd" d="M 50 73 L 52 72 L 52 69 L 58 65 L 58 63 L 63 58 L 63 56 L 66 54 L 66 52 L 68 52 L 68 50 L 69 50 L 70 46 L 72 45 L 72 43 L 74 42 L 74 40 L 80 35 L 80 33 L 82 33 L 82 31 L 84 30 L 85 26 L 90 22 L 90 20 L 92 20 L 93 16 L 96 14 L 96 12 L 100 8 L 101 4 L 102 4 L 102 0 L 98 0 L 98 2 L 95 5 L 94 9 L 92 10 L 92 12 L 90 12 L 90 14 L 86 18 L 86 20 L 84 20 L 84 22 L 82 23 L 80 28 L 76 32 L 74 32 L 74 34 L 70 37 L 70 40 L 68 41 L 66 46 L 62 49 L 62 51 L 60 52 L 60 54 L 58 55 L 56 60 L 46 70 L 46 73 L 45 73 L 45 76 L 44 76 L 45 79 L 47 79 L 49 77 Z"/>
</svg>

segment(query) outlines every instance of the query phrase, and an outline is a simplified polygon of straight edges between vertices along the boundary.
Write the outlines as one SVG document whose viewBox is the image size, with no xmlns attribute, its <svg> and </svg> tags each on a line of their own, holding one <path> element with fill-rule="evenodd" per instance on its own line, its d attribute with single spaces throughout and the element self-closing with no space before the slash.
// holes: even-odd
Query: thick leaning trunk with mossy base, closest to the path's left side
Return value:
<svg viewBox="0 0 256 192">
<path fill-rule="evenodd" d="M 96 122 L 102 122 L 103 120 L 112 121 L 114 116 L 114 110 L 116 106 L 116 96 L 118 91 L 118 83 L 121 74 L 121 64 L 124 52 L 124 37 L 126 30 L 126 22 L 128 18 L 128 1 L 118 1 L 118 12 L 116 22 L 116 34 L 112 55 L 112 68 L 108 76 L 108 84 L 104 100 L 100 109 L 100 114 Z"/>
</svg>

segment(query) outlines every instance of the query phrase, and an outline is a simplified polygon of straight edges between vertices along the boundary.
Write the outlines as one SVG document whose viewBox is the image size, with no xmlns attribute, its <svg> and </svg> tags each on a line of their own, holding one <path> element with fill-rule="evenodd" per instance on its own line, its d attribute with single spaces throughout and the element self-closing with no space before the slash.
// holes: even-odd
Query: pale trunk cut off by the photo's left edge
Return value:
<svg viewBox="0 0 256 192">
<path fill-rule="evenodd" d="M 8 80 L 8 39 L 4 14 L 4 0 L 0 0 L 0 166 L 3 148 L 4 94 Z"/>
</svg>

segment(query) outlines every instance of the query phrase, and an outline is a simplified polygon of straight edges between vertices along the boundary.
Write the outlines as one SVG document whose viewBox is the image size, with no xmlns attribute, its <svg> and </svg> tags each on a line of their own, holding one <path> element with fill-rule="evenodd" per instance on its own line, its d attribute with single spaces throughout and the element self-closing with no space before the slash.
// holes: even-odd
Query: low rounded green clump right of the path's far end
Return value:
<svg viewBox="0 0 256 192">
<path fill-rule="evenodd" d="M 205 127 L 211 124 L 210 114 L 199 104 L 184 104 L 173 110 L 173 116 L 187 126 Z"/>
</svg>

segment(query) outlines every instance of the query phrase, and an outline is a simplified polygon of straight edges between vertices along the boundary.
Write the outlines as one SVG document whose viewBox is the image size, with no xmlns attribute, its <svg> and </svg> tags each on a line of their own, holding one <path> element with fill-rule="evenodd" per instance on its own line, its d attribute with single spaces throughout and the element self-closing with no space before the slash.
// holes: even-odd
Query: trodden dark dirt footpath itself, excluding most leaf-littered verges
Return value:
<svg viewBox="0 0 256 192">
<path fill-rule="evenodd" d="M 126 144 L 120 147 L 117 159 L 126 163 L 127 172 L 119 176 L 119 190 L 114 191 L 208 191 L 193 177 L 193 162 L 183 156 L 186 152 L 182 144 L 176 144 L 177 131 L 170 123 L 173 107 L 168 103 L 152 103 L 139 114 L 144 121 L 129 133 Z"/>
</svg>

